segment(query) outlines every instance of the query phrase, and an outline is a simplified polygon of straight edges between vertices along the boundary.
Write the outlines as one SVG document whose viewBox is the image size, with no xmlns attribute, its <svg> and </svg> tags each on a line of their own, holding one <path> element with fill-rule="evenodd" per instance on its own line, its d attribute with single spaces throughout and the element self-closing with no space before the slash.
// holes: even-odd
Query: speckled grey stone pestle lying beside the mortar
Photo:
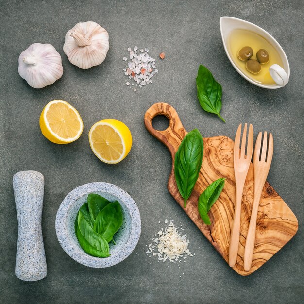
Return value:
<svg viewBox="0 0 304 304">
<path fill-rule="evenodd" d="M 21 171 L 13 176 L 18 218 L 16 276 L 24 281 L 37 281 L 47 275 L 41 215 L 44 177 L 36 171 Z"/>
</svg>

